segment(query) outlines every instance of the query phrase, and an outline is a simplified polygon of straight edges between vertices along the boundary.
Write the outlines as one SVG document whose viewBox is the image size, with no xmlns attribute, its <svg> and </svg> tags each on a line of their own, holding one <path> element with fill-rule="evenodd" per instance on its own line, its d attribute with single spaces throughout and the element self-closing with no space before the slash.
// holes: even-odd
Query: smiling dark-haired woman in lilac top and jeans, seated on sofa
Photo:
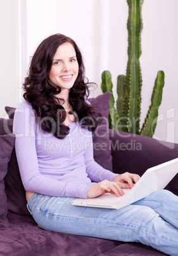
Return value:
<svg viewBox="0 0 178 256">
<path fill-rule="evenodd" d="M 16 108 L 13 133 L 27 206 L 35 222 L 49 231 L 139 241 L 177 255 L 178 197 L 167 190 L 120 210 L 71 204 L 75 197 L 94 198 L 107 192 L 124 196 L 123 188 L 132 188 L 140 178 L 112 173 L 93 158 L 92 131 L 101 115 L 87 101 L 89 82 L 75 42 L 62 34 L 44 39 L 23 85 L 25 101 Z"/>
</svg>

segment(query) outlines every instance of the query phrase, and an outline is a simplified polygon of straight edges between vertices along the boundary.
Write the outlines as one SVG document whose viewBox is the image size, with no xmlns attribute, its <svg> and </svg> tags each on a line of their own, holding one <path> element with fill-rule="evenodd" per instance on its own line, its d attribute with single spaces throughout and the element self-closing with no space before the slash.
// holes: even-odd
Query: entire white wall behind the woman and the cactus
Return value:
<svg viewBox="0 0 178 256">
<path fill-rule="evenodd" d="M 4 106 L 16 106 L 22 101 L 19 88 L 35 48 L 42 39 L 57 32 L 72 37 L 82 50 L 86 76 L 98 84 L 92 96 L 101 94 L 101 73 L 108 69 L 117 99 L 117 76 L 125 75 L 127 66 L 126 0 L 1 0 L 0 4 L 1 117 Z M 140 60 L 141 123 L 148 111 L 156 74 L 163 70 L 165 87 L 155 136 L 178 143 L 177 11 L 177 0 L 144 0 Z"/>
</svg>

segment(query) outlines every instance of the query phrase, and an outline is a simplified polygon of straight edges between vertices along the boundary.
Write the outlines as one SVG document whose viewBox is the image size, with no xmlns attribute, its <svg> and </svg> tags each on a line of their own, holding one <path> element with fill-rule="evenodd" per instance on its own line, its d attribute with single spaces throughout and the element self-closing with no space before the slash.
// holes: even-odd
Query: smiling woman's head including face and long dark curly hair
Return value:
<svg viewBox="0 0 178 256">
<path fill-rule="evenodd" d="M 63 34 L 44 39 L 32 57 L 23 97 L 32 104 L 41 128 L 56 138 L 67 136 L 76 117 L 90 131 L 95 129 L 99 114 L 85 100 L 89 82 L 84 71 L 78 46 Z"/>
</svg>

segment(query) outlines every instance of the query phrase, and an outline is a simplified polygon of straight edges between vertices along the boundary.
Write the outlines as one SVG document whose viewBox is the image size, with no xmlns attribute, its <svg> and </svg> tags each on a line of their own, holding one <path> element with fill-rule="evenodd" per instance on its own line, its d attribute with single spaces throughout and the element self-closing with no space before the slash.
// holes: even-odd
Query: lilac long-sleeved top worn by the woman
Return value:
<svg viewBox="0 0 178 256">
<path fill-rule="evenodd" d="M 15 111 L 13 133 L 25 190 L 60 197 L 87 198 L 91 181 L 112 181 L 117 174 L 93 158 L 92 133 L 72 122 L 68 136 L 58 139 L 39 127 L 32 105 L 23 101 Z"/>
</svg>

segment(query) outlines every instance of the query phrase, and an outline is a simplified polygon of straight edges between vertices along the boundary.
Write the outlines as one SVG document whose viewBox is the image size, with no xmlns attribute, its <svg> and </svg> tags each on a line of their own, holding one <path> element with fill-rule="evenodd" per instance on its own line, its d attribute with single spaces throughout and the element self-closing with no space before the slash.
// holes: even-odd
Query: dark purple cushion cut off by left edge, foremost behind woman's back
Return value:
<svg viewBox="0 0 178 256">
<path fill-rule="evenodd" d="M 8 162 L 11 158 L 15 142 L 14 134 L 0 135 L 0 227 L 8 227 L 6 215 L 8 213 L 7 197 L 4 190 L 4 177 L 8 173 Z"/>
</svg>

